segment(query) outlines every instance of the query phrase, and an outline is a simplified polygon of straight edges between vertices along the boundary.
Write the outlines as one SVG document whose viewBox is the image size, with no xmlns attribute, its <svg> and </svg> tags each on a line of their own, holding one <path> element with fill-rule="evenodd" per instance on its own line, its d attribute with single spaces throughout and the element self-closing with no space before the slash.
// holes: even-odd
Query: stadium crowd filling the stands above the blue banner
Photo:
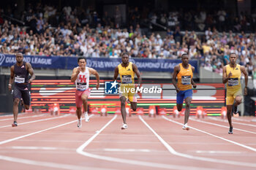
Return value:
<svg viewBox="0 0 256 170">
<path fill-rule="evenodd" d="M 254 30 L 256 15 L 241 14 L 231 20 L 222 9 L 214 15 L 205 11 L 159 14 L 139 12 L 135 7 L 129 9 L 129 26 L 121 28 L 118 10 L 116 7 L 113 18 L 108 17 L 108 12 L 99 18 L 91 7 L 86 10 L 64 7 L 58 12 L 53 6 L 28 5 L 20 16 L 25 26 L 10 20 L 1 23 L 0 53 L 118 58 L 127 52 L 132 58 L 170 59 L 188 53 L 191 59 L 200 60 L 201 66 L 217 73 L 222 73 L 222 66 L 229 62 L 229 54 L 236 53 L 238 63 L 246 66 L 249 75 L 256 68 L 256 34 L 248 33 Z M 14 17 L 11 9 L 1 12 Z M 154 32 L 146 34 L 140 28 L 145 20 L 150 21 L 149 26 L 161 23 L 167 31 L 162 36 Z"/>
</svg>

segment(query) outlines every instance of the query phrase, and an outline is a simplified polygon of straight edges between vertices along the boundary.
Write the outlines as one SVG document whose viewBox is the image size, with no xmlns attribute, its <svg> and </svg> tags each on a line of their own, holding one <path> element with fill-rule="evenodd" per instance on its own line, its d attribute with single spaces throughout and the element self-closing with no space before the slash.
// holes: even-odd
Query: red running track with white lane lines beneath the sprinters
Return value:
<svg viewBox="0 0 256 170">
<path fill-rule="evenodd" d="M 0 116 L 0 169 L 256 169 L 255 117 L 234 117 L 234 134 L 220 117 L 91 115 Z"/>
</svg>

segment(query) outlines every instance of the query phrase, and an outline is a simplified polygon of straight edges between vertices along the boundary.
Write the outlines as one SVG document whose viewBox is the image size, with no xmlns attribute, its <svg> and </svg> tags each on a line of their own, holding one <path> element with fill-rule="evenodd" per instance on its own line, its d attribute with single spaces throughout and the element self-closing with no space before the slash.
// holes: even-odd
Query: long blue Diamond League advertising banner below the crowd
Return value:
<svg viewBox="0 0 256 170">
<path fill-rule="evenodd" d="M 73 69 L 78 66 L 76 57 L 24 55 L 24 61 L 31 63 L 34 68 Z M 86 61 L 87 66 L 98 71 L 113 71 L 121 63 L 121 58 L 86 58 Z M 148 58 L 130 58 L 129 61 L 135 63 L 140 71 L 145 72 L 173 72 L 174 67 L 181 63 L 181 60 Z M 0 66 L 12 66 L 14 63 L 15 55 L 0 54 Z M 195 67 L 197 73 L 197 61 L 189 63 Z"/>
</svg>

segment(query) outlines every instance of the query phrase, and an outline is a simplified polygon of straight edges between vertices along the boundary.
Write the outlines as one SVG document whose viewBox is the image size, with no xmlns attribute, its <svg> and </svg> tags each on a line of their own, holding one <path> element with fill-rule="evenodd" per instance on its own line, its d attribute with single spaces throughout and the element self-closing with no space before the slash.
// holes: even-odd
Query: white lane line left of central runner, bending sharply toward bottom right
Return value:
<svg viewBox="0 0 256 170">
<path fill-rule="evenodd" d="M 153 162 L 146 162 L 146 161 L 136 161 L 136 160 L 130 160 L 130 159 L 122 159 L 122 158 L 114 158 L 110 156 L 102 156 L 102 155 L 96 155 L 89 152 L 84 152 L 83 150 L 92 142 L 93 139 L 95 139 L 110 123 L 112 123 L 113 120 L 116 119 L 113 117 L 106 125 L 104 125 L 97 134 L 94 134 L 94 136 L 91 136 L 89 140 L 87 140 L 84 144 L 82 144 L 78 149 L 76 150 L 79 154 L 88 156 L 90 158 L 96 158 L 104 161 L 111 161 L 111 162 L 118 162 L 118 163 L 128 163 L 132 165 L 137 166 L 148 166 L 148 167 L 154 167 L 154 168 L 162 168 L 162 169 L 178 169 L 178 170 L 215 170 L 215 169 L 206 169 L 206 168 L 200 168 L 195 166 L 176 166 L 176 165 L 169 165 L 164 163 L 153 163 Z M 256 167 L 256 166 L 255 166 Z"/>
</svg>

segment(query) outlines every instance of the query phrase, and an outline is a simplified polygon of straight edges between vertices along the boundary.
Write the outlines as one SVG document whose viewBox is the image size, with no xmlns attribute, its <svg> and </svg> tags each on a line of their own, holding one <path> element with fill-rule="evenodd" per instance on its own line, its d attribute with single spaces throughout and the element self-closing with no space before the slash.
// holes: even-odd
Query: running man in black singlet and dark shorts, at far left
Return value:
<svg viewBox="0 0 256 170">
<path fill-rule="evenodd" d="M 31 83 L 35 78 L 34 70 L 30 63 L 23 61 L 23 54 L 16 54 L 16 63 L 11 66 L 11 74 L 8 89 L 12 90 L 12 83 L 15 82 L 13 87 L 13 118 L 12 127 L 18 126 L 18 104 L 20 98 L 23 99 L 23 104 L 25 109 L 29 109 L 30 105 L 30 95 L 29 95 L 29 83 Z M 31 78 L 29 79 L 29 74 Z"/>
</svg>

